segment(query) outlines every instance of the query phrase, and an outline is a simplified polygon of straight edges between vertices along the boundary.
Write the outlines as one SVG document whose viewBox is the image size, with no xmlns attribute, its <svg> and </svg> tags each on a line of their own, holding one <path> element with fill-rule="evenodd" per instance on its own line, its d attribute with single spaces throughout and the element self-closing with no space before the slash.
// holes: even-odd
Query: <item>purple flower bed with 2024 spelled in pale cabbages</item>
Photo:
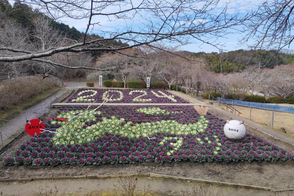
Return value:
<svg viewBox="0 0 294 196">
<path fill-rule="evenodd" d="M 68 103 L 89 103 L 97 100 L 102 102 L 112 96 L 109 103 L 188 103 L 163 89 L 91 89 L 81 88 L 69 98 Z"/>
</svg>

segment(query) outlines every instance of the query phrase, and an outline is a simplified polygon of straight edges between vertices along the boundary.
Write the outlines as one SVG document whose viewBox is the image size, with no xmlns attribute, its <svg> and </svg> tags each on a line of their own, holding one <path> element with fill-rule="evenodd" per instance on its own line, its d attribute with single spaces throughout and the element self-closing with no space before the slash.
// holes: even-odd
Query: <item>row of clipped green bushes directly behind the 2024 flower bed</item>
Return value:
<svg viewBox="0 0 294 196">
<path fill-rule="evenodd" d="M 105 87 L 115 87 L 115 88 L 123 88 L 124 83 L 122 81 L 111 81 L 105 80 L 103 81 L 103 86 Z M 151 89 L 163 88 L 166 89 L 168 86 L 166 83 L 163 82 L 155 82 L 150 83 Z M 126 83 L 126 88 L 147 88 L 146 83 L 143 81 L 128 81 Z"/>
</svg>

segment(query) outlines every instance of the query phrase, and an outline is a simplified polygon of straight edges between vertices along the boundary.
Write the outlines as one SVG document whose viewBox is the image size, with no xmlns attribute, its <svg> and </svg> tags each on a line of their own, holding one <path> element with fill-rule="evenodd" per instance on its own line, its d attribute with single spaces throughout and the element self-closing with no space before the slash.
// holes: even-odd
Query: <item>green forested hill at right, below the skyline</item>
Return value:
<svg viewBox="0 0 294 196">
<path fill-rule="evenodd" d="M 205 53 L 205 52 L 191 52 L 193 57 L 204 58 L 209 65 L 211 71 L 220 73 L 222 68 L 223 73 L 230 73 L 239 71 L 246 66 L 266 65 L 267 61 L 276 53 L 276 51 L 265 50 L 235 50 L 222 53 Z M 275 65 L 289 64 L 294 62 L 294 55 L 292 51 L 284 50 L 273 57 L 266 67 L 274 67 Z"/>
</svg>

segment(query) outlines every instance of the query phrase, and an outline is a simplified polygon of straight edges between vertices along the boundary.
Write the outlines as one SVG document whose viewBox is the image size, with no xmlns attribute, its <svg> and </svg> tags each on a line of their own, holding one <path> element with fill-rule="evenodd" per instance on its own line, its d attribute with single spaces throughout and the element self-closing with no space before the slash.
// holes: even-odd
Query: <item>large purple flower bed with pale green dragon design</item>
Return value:
<svg viewBox="0 0 294 196">
<path fill-rule="evenodd" d="M 210 114 L 197 115 L 191 106 L 158 108 L 178 113 L 147 114 L 140 107 L 103 106 L 93 113 L 83 113 L 81 106 L 61 108 L 56 116 L 71 120 L 46 123 L 47 129 L 58 133 L 31 137 L 4 164 L 82 166 L 185 160 L 294 160 L 292 153 L 249 133 L 242 140 L 231 142 L 223 133 L 223 119 Z M 81 112 L 82 115 L 73 118 Z"/>
</svg>

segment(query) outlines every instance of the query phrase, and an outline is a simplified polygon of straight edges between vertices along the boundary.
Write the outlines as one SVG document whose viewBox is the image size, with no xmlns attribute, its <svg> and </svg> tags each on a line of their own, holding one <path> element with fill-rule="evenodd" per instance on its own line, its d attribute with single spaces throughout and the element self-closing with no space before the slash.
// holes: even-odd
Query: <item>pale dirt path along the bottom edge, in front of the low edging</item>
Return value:
<svg viewBox="0 0 294 196">
<path fill-rule="evenodd" d="M 203 190 L 210 190 L 213 195 L 219 194 L 224 196 L 239 195 L 256 195 L 263 196 L 268 195 L 269 191 L 262 190 L 250 190 L 242 188 L 230 188 L 225 186 L 203 185 L 197 183 L 188 183 L 178 180 L 163 180 L 158 178 L 138 178 L 138 190 L 144 191 L 150 186 L 148 192 L 151 194 L 156 192 L 159 195 L 182 195 L 182 189 L 191 192 L 191 187 L 200 185 L 203 186 Z M 53 194 L 58 190 L 58 195 L 64 192 L 64 195 L 102 195 L 104 192 L 114 192 L 115 186 L 119 186 L 117 179 L 76 179 L 76 180 L 41 180 L 41 181 L 30 181 L 30 182 L 6 182 L 0 183 L 0 192 L 3 195 L 41 195 L 46 193 L 45 187 L 47 188 L 47 194 L 52 189 Z M 164 191 L 164 192 L 163 192 Z M 186 193 L 186 195 L 188 195 Z M 48 194 L 49 195 L 49 194 Z M 89 194 L 90 195 L 90 194 Z M 152 194 L 153 195 L 153 194 Z M 155 195 L 155 194 L 154 194 Z M 157 194 L 156 194 L 157 195 Z"/>
</svg>

